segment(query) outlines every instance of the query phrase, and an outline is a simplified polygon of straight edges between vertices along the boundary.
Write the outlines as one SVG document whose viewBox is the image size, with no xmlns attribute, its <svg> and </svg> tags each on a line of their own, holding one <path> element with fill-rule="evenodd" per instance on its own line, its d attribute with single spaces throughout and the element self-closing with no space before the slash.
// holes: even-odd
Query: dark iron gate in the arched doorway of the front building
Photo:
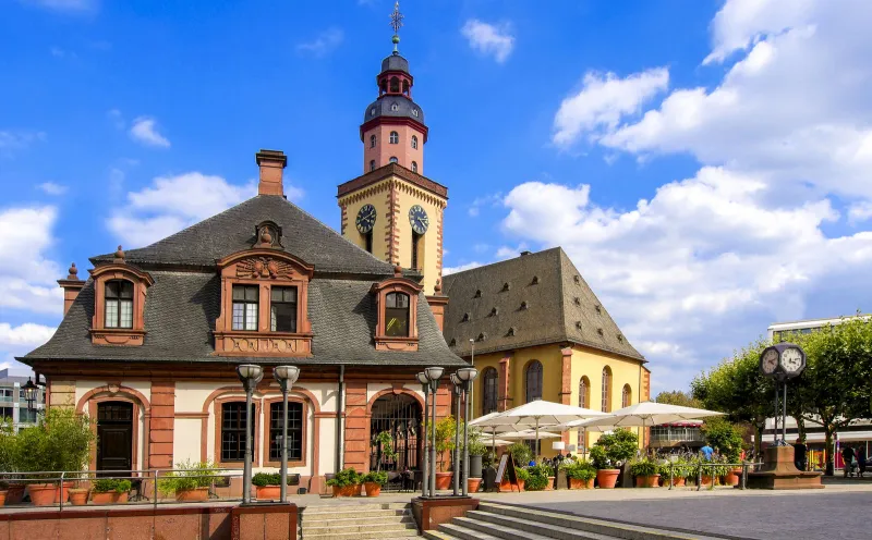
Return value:
<svg viewBox="0 0 872 540">
<path fill-rule="evenodd" d="M 397 457 L 386 457 L 382 470 L 417 469 L 421 450 L 421 405 L 417 401 L 408 394 L 387 394 L 375 401 L 370 422 L 370 470 L 376 470 L 382 459 L 382 446 L 376 437 L 383 431 L 390 433 Z"/>
</svg>

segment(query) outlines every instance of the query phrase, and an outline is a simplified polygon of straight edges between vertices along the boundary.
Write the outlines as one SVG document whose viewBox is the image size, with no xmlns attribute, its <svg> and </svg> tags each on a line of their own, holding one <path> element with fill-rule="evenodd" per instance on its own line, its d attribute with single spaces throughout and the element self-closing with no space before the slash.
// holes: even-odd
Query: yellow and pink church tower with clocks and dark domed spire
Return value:
<svg viewBox="0 0 872 540">
<path fill-rule="evenodd" d="M 399 3 L 399 2 L 398 2 Z M 443 273 L 443 214 L 448 188 L 424 176 L 427 126 L 412 100 L 414 77 L 400 56 L 399 5 L 391 14 L 393 52 L 376 76 L 378 98 L 363 114 L 363 174 L 339 186 L 342 235 L 379 259 L 424 275 L 437 294 Z"/>
</svg>

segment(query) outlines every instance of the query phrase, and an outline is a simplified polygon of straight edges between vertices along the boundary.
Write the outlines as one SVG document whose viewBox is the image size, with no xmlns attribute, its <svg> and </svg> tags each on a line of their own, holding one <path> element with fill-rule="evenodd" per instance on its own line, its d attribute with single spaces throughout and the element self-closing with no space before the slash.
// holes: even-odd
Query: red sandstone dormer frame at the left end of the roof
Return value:
<svg viewBox="0 0 872 540">
<path fill-rule="evenodd" d="M 95 345 L 138 346 L 145 339 L 146 290 L 155 284 L 147 272 L 123 262 L 100 265 L 90 270 L 94 283 L 94 317 L 90 321 L 90 342 Z M 106 326 L 106 283 L 128 281 L 133 283 L 133 326 L 111 328 Z"/>
</svg>

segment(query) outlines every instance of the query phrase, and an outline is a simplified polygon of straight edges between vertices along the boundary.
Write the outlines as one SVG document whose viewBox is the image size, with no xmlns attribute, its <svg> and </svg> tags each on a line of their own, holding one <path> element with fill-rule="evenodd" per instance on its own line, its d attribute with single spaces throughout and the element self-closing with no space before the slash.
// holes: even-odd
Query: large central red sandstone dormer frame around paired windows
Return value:
<svg viewBox="0 0 872 540">
<path fill-rule="evenodd" d="M 262 247 L 225 257 L 218 261 L 218 268 L 221 275 L 221 312 L 215 321 L 216 355 L 312 355 L 308 282 L 314 267 L 284 251 Z M 258 286 L 257 330 L 233 330 L 233 285 Z M 296 287 L 296 332 L 270 330 L 272 286 Z"/>
</svg>

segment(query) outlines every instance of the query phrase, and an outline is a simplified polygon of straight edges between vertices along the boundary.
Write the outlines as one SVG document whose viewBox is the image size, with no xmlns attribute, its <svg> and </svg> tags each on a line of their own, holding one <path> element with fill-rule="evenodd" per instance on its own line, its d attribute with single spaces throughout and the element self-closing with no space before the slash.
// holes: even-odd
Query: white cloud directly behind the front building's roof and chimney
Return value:
<svg viewBox="0 0 872 540">
<path fill-rule="evenodd" d="M 257 194 L 257 182 L 231 184 L 221 176 L 187 172 L 158 176 L 152 186 L 128 193 L 128 206 L 107 226 L 126 248 L 142 247 L 210 218 Z M 299 200 L 303 191 L 284 182 L 284 194 Z"/>
</svg>

